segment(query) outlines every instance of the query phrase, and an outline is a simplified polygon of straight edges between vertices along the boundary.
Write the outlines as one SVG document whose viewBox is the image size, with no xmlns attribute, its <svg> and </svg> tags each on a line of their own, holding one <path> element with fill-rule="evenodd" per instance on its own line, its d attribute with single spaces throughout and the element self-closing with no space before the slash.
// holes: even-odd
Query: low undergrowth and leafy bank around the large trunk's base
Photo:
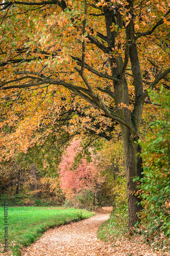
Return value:
<svg viewBox="0 0 170 256">
<path fill-rule="evenodd" d="M 136 239 L 139 239 L 139 243 L 149 244 L 153 251 L 170 252 L 170 239 L 164 236 L 161 230 L 156 232 L 151 226 L 150 231 L 148 231 L 140 223 L 136 223 L 135 227 L 129 229 L 128 206 L 126 203 L 122 205 L 116 203 L 110 219 L 100 226 L 98 238 L 115 245 L 115 242 L 123 237 L 132 242 L 136 242 Z"/>
</svg>

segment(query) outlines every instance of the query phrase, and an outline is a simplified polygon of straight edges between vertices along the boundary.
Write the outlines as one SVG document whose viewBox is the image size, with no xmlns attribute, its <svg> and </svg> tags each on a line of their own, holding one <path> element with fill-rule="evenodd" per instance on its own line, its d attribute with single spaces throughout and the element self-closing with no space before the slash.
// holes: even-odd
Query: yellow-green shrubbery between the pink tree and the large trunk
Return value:
<svg viewBox="0 0 170 256">
<path fill-rule="evenodd" d="M 117 131 L 118 133 L 118 131 Z M 116 138 L 116 134 L 115 134 Z M 105 141 L 100 151 L 101 174 L 106 182 L 102 185 L 102 205 L 124 204 L 127 201 L 127 184 L 122 140 Z"/>
</svg>

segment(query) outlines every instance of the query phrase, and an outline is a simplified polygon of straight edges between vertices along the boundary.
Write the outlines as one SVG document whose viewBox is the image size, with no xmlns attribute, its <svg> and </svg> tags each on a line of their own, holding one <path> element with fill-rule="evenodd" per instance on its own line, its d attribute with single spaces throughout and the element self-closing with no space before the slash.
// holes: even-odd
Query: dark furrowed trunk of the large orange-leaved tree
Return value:
<svg viewBox="0 0 170 256">
<path fill-rule="evenodd" d="M 133 16 L 133 1 L 129 0 L 130 11 L 128 11 L 127 15 L 131 13 Z M 110 31 L 110 24 L 113 22 L 114 14 L 110 12 L 109 7 L 105 7 L 105 24 L 106 24 L 106 32 L 107 32 L 107 42 L 108 47 L 110 49 L 114 48 L 116 32 Z M 122 15 L 117 8 L 116 11 L 117 17 L 117 25 L 119 28 L 122 28 L 123 21 Z M 121 45 L 118 45 L 118 48 L 121 48 Z M 130 58 L 131 69 L 134 77 L 134 87 L 135 87 L 135 105 L 134 110 L 131 111 L 128 109 L 129 107 L 129 92 L 128 92 L 128 84 L 125 77 L 125 70 L 128 65 L 128 60 Z M 142 209 L 140 204 L 136 202 L 140 202 L 140 199 L 135 196 L 137 191 L 137 183 L 133 182 L 134 177 L 142 178 L 142 160 L 140 155 L 140 146 L 137 143 L 137 139 L 139 138 L 139 124 L 143 110 L 143 102 L 138 103 L 138 98 L 143 93 L 142 87 L 142 77 L 140 72 L 140 63 L 138 59 L 138 53 L 136 44 L 134 41 L 134 23 L 133 19 L 131 19 L 129 25 L 126 27 L 126 49 L 125 49 L 125 58 L 123 59 L 119 54 L 116 57 L 112 56 L 109 58 L 110 67 L 112 70 L 112 76 L 117 77 L 120 81 L 113 81 L 114 86 L 114 94 L 115 94 L 115 104 L 117 106 L 116 114 L 118 116 L 125 119 L 129 124 L 134 128 L 135 133 L 132 133 L 130 129 L 120 124 L 122 130 L 122 138 L 124 145 L 124 153 L 125 153 L 125 166 L 126 166 L 126 176 L 127 176 L 127 194 L 128 194 L 128 209 L 129 209 L 129 227 L 133 227 L 136 221 L 139 221 L 137 212 Z M 120 104 L 126 104 L 126 107 L 121 108 Z M 136 142 L 136 143 L 135 143 Z"/>
</svg>

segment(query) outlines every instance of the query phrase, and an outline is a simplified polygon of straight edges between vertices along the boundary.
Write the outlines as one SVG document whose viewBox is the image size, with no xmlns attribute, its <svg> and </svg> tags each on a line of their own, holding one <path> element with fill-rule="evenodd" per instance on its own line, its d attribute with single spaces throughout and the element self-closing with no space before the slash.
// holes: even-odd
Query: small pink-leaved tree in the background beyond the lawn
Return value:
<svg viewBox="0 0 170 256">
<path fill-rule="evenodd" d="M 67 146 L 59 165 L 61 189 L 66 198 L 75 198 L 76 194 L 81 191 L 89 190 L 93 194 L 92 200 L 94 200 L 104 177 L 102 178 L 100 175 L 99 159 L 97 160 L 91 152 L 92 160 L 88 161 L 88 155 L 82 156 L 82 149 L 80 138 L 72 140 L 71 144 Z"/>
</svg>

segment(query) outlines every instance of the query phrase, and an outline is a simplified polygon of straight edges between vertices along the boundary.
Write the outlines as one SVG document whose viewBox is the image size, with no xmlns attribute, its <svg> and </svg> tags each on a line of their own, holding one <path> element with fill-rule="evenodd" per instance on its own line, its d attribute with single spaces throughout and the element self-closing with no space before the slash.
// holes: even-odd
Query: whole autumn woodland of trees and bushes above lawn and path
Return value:
<svg viewBox="0 0 170 256">
<path fill-rule="evenodd" d="M 113 206 L 169 246 L 169 1 L 0 8 L 1 205 Z"/>
</svg>

